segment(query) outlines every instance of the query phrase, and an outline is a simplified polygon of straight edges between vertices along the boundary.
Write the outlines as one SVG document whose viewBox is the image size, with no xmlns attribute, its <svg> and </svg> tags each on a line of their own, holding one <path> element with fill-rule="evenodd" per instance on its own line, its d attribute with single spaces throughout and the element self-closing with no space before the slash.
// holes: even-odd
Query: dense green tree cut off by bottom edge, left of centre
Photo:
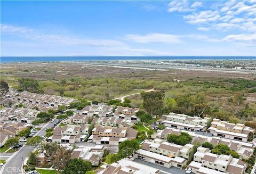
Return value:
<svg viewBox="0 0 256 174">
<path fill-rule="evenodd" d="M 62 174 L 82 174 L 91 169 L 91 162 L 82 159 L 72 159 L 67 167 L 62 171 Z"/>
</svg>

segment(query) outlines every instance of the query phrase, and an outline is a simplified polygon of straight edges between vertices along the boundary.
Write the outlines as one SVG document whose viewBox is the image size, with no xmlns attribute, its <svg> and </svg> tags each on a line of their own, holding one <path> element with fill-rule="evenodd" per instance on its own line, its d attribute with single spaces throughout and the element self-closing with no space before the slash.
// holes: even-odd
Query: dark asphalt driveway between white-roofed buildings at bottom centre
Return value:
<svg viewBox="0 0 256 174">
<path fill-rule="evenodd" d="M 162 171 L 167 172 L 167 173 L 172 173 L 172 174 L 186 173 L 186 170 L 183 170 L 183 169 L 180 169 L 180 168 L 175 168 L 175 167 L 165 168 L 165 167 L 162 167 L 161 165 L 156 165 L 156 164 L 153 164 L 153 163 L 150 163 L 150 162 L 147 162 L 147 161 L 143 161 L 141 159 L 134 159 L 133 161 L 138 162 L 140 164 L 148 165 L 149 167 L 153 167 L 155 169 L 162 170 Z"/>
</svg>

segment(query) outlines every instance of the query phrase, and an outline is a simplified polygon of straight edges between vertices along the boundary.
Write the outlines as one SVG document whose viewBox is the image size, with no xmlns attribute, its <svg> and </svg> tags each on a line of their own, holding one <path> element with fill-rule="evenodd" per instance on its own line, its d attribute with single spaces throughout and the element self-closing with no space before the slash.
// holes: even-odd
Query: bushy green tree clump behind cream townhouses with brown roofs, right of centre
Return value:
<svg viewBox="0 0 256 174">
<path fill-rule="evenodd" d="M 191 136 L 187 132 L 181 132 L 180 135 L 170 134 L 167 137 L 169 143 L 174 143 L 178 145 L 186 145 L 192 140 Z"/>
</svg>

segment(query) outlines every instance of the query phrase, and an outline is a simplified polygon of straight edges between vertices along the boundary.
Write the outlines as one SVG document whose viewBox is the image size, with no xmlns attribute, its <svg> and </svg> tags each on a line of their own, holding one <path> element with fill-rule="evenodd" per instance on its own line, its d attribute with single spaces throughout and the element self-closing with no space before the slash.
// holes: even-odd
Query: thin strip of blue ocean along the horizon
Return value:
<svg viewBox="0 0 256 174">
<path fill-rule="evenodd" d="M 61 62 L 61 61 L 118 61 L 118 60 L 256 60 L 256 56 L 49 56 L 7 57 L 1 63 L 11 62 Z"/>
</svg>

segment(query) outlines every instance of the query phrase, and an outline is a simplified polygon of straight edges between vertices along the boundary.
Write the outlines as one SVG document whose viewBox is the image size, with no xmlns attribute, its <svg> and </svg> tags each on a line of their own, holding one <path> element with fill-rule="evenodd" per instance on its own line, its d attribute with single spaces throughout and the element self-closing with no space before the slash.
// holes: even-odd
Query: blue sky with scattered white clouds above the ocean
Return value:
<svg viewBox="0 0 256 174">
<path fill-rule="evenodd" d="M 255 56 L 256 0 L 1 1 L 1 56 Z"/>
</svg>

